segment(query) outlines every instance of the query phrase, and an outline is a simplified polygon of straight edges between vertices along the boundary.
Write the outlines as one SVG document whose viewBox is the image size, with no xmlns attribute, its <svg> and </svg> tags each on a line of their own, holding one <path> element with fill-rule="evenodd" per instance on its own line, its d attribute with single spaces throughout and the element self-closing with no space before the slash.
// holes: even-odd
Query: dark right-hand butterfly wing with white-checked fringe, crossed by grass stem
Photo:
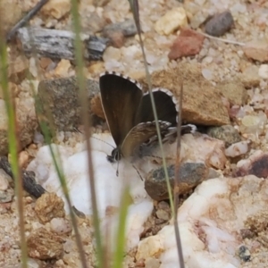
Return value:
<svg viewBox="0 0 268 268">
<path fill-rule="evenodd" d="M 172 126 L 175 126 L 179 104 L 176 98 L 172 95 L 172 92 L 165 88 L 154 88 L 152 93 L 155 99 L 158 120 L 171 122 Z M 151 98 L 148 93 L 142 97 L 136 118 L 136 123 L 144 121 L 155 121 Z"/>
</svg>

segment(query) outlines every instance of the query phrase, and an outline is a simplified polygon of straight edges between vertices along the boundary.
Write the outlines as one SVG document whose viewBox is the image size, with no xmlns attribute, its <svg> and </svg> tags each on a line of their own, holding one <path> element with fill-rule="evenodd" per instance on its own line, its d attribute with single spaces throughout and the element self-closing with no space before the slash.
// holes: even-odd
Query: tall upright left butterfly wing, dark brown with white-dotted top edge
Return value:
<svg viewBox="0 0 268 268">
<path fill-rule="evenodd" d="M 115 72 L 100 76 L 99 87 L 105 118 L 117 147 L 135 126 L 138 105 L 143 96 L 141 86 Z"/>
</svg>

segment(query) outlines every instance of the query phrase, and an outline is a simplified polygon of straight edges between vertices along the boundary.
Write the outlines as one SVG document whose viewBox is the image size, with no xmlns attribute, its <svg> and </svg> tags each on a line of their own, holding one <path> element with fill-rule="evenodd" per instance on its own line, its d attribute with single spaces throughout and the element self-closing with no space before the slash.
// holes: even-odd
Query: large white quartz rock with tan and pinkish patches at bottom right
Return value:
<svg viewBox="0 0 268 268">
<path fill-rule="evenodd" d="M 268 181 L 253 175 L 206 180 L 180 206 L 178 222 L 185 267 L 239 267 L 236 255 L 247 219 L 268 215 Z M 264 215 L 265 216 L 265 215 Z M 160 255 L 160 256 L 159 256 Z M 138 243 L 137 259 L 155 256 L 161 268 L 178 267 L 174 228 L 165 226 Z"/>
</svg>

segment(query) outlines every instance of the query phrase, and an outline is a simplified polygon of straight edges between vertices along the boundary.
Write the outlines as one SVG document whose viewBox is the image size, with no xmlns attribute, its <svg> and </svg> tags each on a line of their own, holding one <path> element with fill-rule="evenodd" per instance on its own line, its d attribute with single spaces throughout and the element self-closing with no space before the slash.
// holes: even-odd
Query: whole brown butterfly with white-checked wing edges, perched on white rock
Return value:
<svg viewBox="0 0 268 268">
<path fill-rule="evenodd" d="M 105 118 L 116 144 L 112 155 L 107 156 L 110 162 L 135 155 L 142 144 L 157 141 L 151 99 L 137 81 L 106 71 L 100 76 L 99 86 Z M 168 89 L 154 88 L 152 93 L 164 138 L 176 129 L 179 105 Z M 188 126 L 191 131 L 192 126 Z"/>
</svg>

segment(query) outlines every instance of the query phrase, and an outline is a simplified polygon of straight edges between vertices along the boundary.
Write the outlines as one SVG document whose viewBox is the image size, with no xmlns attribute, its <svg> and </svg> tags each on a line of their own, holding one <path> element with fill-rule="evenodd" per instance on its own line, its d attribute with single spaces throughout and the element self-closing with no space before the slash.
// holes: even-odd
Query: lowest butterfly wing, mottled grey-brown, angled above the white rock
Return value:
<svg viewBox="0 0 268 268">
<path fill-rule="evenodd" d="M 171 123 L 159 121 L 160 131 L 167 130 Z M 156 135 L 155 121 L 141 122 L 133 127 L 124 139 L 121 146 L 121 154 L 129 157 L 135 154 L 139 146 Z"/>
</svg>

